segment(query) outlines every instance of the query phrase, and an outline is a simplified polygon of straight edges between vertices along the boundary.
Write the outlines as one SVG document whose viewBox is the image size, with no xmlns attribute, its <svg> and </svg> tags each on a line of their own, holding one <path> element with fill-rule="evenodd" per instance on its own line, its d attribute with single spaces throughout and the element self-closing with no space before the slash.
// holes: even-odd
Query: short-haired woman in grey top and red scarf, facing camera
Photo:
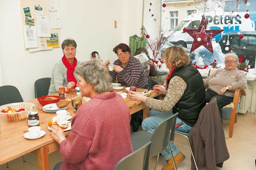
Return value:
<svg viewBox="0 0 256 170">
<path fill-rule="evenodd" d="M 74 72 L 76 65 L 80 61 L 76 60 L 76 41 L 73 39 L 65 39 L 61 44 L 63 57 L 54 65 L 52 70 L 52 79 L 49 87 L 49 93 L 57 93 L 59 87 L 65 87 L 65 91 L 69 92 L 76 87 L 77 74 Z"/>
</svg>

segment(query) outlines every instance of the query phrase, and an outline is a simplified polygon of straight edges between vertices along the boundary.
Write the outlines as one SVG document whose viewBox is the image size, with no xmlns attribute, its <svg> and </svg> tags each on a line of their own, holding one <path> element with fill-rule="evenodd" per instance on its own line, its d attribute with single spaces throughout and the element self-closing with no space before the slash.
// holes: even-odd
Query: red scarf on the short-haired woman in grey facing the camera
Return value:
<svg viewBox="0 0 256 170">
<path fill-rule="evenodd" d="M 76 68 L 76 64 L 77 64 L 76 57 L 74 57 L 74 63 L 72 65 L 66 59 L 65 55 L 63 55 L 61 60 L 62 60 L 63 64 L 65 65 L 65 67 L 68 69 L 67 70 L 67 81 L 68 81 L 68 83 L 70 81 L 74 81 L 74 83 L 77 83 L 76 78 L 75 78 L 74 73 L 73 73 L 75 68 Z M 74 88 L 76 88 L 76 84 L 75 84 Z"/>
</svg>

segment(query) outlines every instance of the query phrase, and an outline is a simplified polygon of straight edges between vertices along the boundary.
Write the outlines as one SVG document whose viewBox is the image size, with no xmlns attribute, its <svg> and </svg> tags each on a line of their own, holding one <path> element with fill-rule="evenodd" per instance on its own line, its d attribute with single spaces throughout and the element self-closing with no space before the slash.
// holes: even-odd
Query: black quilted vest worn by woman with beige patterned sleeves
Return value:
<svg viewBox="0 0 256 170">
<path fill-rule="evenodd" d="M 186 82 L 187 88 L 184 91 L 183 96 L 173 107 L 173 113 L 179 112 L 178 118 L 184 121 L 187 125 L 194 126 L 201 109 L 206 104 L 202 76 L 197 68 L 192 65 L 188 65 L 187 67 L 176 67 L 173 70 L 170 79 L 174 76 L 182 78 Z"/>
</svg>

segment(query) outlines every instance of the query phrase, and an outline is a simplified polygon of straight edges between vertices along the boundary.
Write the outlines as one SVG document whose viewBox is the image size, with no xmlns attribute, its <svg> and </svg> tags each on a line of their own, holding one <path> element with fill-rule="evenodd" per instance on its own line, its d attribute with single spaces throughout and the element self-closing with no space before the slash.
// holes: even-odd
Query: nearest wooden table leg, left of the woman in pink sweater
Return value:
<svg viewBox="0 0 256 170">
<path fill-rule="evenodd" d="M 38 170 L 49 170 L 47 146 L 37 149 L 37 164 L 38 164 Z"/>
</svg>

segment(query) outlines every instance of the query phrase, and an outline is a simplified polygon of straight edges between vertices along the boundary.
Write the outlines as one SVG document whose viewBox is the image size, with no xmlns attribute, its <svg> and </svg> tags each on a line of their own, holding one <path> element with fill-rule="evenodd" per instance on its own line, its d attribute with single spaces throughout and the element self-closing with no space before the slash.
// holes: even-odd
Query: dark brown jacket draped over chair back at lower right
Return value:
<svg viewBox="0 0 256 170">
<path fill-rule="evenodd" d="M 200 112 L 197 123 L 189 132 L 189 142 L 198 169 L 206 167 L 207 170 L 216 170 L 216 164 L 222 167 L 229 158 L 216 98 L 212 98 Z M 191 157 L 191 170 L 195 169 Z"/>
</svg>

